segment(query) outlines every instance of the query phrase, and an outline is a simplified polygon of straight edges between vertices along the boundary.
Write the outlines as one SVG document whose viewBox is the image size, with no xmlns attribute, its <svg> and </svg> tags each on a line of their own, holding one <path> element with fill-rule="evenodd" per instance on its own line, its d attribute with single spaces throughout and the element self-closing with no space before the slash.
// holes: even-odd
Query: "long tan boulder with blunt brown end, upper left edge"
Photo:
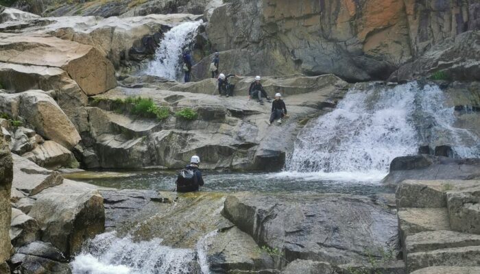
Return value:
<svg viewBox="0 0 480 274">
<path fill-rule="evenodd" d="M 63 69 L 86 95 L 117 83 L 112 63 L 95 47 L 43 34 L 0 34 L 0 62 Z"/>
</svg>

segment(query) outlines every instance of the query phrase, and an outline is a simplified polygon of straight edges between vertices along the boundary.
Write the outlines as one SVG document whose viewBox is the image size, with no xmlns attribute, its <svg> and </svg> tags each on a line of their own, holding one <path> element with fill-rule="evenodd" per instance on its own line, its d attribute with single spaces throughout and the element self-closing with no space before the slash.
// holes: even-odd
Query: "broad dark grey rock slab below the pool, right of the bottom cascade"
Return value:
<svg viewBox="0 0 480 274">
<path fill-rule="evenodd" d="M 243 192 L 227 197 L 223 214 L 287 261 L 366 262 L 368 251 L 399 247 L 396 214 L 362 197 Z"/>
</svg>

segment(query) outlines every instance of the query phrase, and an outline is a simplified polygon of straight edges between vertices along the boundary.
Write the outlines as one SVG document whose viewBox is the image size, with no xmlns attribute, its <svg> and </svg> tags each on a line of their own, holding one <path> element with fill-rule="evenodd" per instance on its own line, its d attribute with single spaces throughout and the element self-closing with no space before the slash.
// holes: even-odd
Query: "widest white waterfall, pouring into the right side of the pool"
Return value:
<svg viewBox="0 0 480 274">
<path fill-rule="evenodd" d="M 457 157 L 479 157 L 477 136 L 454 123 L 454 108 L 444 106 L 437 86 L 352 88 L 333 112 L 300 133 L 286 170 L 381 178 L 394 158 L 416 154 L 422 144 L 451 145 Z"/>
</svg>

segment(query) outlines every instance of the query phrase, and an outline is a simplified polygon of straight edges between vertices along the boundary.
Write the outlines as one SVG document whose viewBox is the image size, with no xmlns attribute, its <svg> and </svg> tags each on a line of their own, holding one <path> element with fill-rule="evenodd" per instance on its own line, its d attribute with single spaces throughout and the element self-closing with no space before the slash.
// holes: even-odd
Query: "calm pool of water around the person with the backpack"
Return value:
<svg viewBox="0 0 480 274">
<path fill-rule="evenodd" d="M 203 171 L 202 191 L 215 192 L 320 192 L 374 195 L 394 192 L 379 184 L 382 175 L 355 173 L 215 173 Z M 175 188 L 176 171 L 125 171 L 71 173 L 69 179 L 109 188 L 169 191 Z M 380 178 L 380 179 L 379 179 Z"/>
</svg>

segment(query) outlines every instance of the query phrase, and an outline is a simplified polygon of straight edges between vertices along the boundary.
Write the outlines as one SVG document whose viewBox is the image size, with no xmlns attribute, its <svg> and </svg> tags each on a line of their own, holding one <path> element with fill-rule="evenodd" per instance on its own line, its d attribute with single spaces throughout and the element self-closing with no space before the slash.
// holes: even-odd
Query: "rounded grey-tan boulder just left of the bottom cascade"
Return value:
<svg viewBox="0 0 480 274">
<path fill-rule="evenodd" d="M 35 195 L 29 216 L 42 229 L 42 240 L 65 256 L 80 251 L 84 240 L 104 231 L 104 200 L 87 184 L 65 180 Z"/>
</svg>

